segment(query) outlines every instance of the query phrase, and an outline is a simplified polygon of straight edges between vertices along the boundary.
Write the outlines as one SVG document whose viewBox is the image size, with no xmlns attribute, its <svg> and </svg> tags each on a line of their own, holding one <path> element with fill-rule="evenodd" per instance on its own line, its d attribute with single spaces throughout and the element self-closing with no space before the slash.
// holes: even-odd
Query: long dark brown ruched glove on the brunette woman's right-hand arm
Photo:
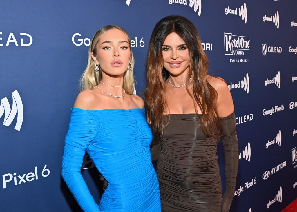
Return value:
<svg viewBox="0 0 297 212">
<path fill-rule="evenodd" d="M 234 112 L 220 118 L 222 125 L 222 142 L 225 152 L 226 191 L 222 199 L 222 212 L 228 212 L 234 197 L 238 170 L 238 140 Z"/>
</svg>

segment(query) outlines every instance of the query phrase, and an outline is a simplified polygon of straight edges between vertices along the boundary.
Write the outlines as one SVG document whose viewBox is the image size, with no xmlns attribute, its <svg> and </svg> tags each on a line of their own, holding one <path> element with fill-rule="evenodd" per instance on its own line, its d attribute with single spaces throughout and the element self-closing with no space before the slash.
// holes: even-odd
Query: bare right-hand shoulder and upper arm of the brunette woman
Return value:
<svg viewBox="0 0 297 212">
<path fill-rule="evenodd" d="M 207 76 L 208 82 L 217 91 L 217 113 L 219 117 L 226 117 L 233 113 L 234 104 L 231 92 L 224 79 L 221 77 Z"/>
</svg>

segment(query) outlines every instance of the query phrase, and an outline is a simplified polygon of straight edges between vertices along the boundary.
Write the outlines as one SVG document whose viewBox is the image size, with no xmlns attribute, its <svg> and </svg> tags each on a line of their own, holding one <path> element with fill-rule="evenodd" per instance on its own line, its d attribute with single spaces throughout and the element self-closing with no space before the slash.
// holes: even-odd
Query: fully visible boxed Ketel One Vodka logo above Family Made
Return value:
<svg viewBox="0 0 297 212">
<path fill-rule="evenodd" d="M 250 39 L 247 36 L 224 33 L 225 55 L 244 55 L 249 50 Z"/>
</svg>

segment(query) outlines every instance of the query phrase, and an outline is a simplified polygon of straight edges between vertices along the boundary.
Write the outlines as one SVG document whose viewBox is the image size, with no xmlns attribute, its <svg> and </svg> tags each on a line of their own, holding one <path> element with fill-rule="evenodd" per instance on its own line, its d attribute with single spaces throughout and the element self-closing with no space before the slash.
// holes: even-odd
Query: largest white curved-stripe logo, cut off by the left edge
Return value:
<svg viewBox="0 0 297 212">
<path fill-rule="evenodd" d="M 20 128 L 23 124 L 23 116 L 24 116 L 24 109 L 23 109 L 23 102 L 20 98 L 20 94 L 17 90 L 13 91 L 12 93 L 12 108 L 10 109 L 10 104 L 8 102 L 8 99 L 4 97 L 1 99 L 1 105 L 0 105 L 0 118 L 4 114 L 4 121 L 3 125 L 9 126 L 13 119 L 15 118 L 15 115 L 18 112 L 17 116 L 17 122 L 15 124 L 15 129 L 20 131 Z"/>
</svg>

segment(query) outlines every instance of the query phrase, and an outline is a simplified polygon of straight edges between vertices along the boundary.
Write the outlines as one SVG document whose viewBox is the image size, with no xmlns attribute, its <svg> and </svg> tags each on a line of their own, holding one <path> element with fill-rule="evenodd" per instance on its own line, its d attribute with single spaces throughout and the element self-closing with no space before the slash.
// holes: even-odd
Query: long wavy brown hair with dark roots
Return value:
<svg viewBox="0 0 297 212">
<path fill-rule="evenodd" d="M 219 139 L 221 124 L 217 114 L 217 91 L 208 83 L 207 71 L 209 62 L 201 45 L 197 29 L 191 21 L 179 15 L 170 15 L 162 18 L 155 26 L 149 42 L 148 56 L 146 59 L 147 86 L 144 90 L 144 101 L 151 130 L 153 133 L 152 145 L 160 139 L 163 129 L 169 123 L 169 116 L 164 116 L 168 111 L 165 81 L 168 71 L 163 67 L 162 45 L 165 38 L 175 32 L 186 43 L 189 50 L 189 80 L 193 71 L 193 86 L 187 91 L 195 100 L 202 111 L 200 127 L 204 134 Z M 197 107 L 195 107 L 197 112 Z M 165 120 L 163 120 L 163 116 Z"/>
</svg>

